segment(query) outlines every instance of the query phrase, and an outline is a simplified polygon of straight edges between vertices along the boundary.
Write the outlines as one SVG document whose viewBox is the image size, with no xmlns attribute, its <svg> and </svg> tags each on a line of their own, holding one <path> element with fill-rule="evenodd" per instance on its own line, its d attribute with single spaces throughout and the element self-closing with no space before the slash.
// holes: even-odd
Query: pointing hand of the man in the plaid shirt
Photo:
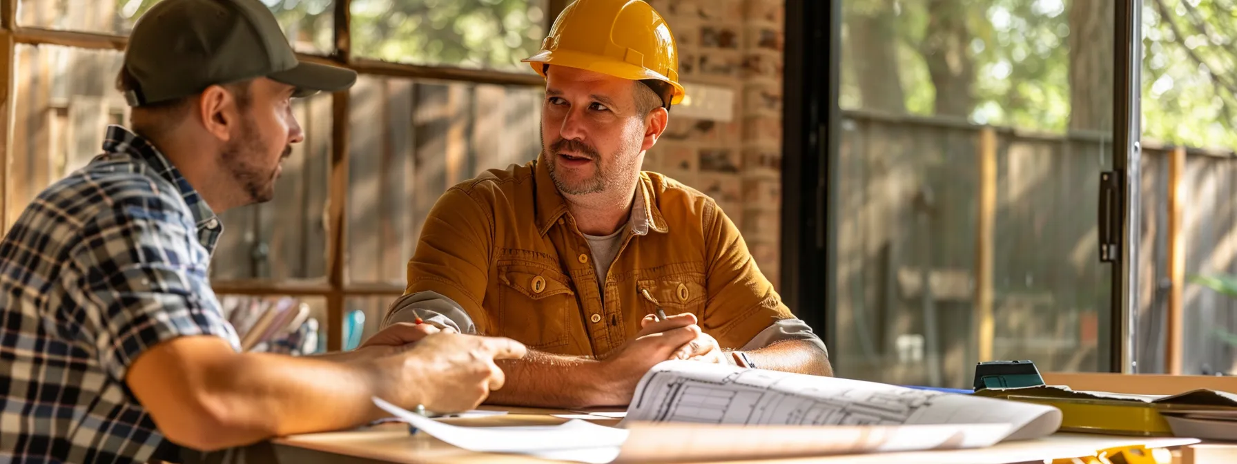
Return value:
<svg viewBox="0 0 1237 464">
<path fill-rule="evenodd" d="M 406 346 L 379 360 L 379 371 L 387 374 L 387 396 L 406 408 L 423 405 L 433 412 L 477 407 L 506 381 L 494 361 L 527 353 L 523 344 L 508 338 L 449 333 L 429 334 Z"/>
</svg>

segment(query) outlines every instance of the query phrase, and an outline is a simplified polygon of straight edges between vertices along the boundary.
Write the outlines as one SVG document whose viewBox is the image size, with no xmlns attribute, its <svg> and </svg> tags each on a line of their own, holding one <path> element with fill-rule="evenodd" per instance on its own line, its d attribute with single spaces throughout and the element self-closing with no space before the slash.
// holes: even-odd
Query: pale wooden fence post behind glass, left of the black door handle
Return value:
<svg viewBox="0 0 1237 464">
<path fill-rule="evenodd" d="M 975 230 L 975 323 L 980 361 L 992 360 L 992 251 L 997 210 L 997 132 L 991 126 L 980 130 L 978 215 Z"/>
</svg>

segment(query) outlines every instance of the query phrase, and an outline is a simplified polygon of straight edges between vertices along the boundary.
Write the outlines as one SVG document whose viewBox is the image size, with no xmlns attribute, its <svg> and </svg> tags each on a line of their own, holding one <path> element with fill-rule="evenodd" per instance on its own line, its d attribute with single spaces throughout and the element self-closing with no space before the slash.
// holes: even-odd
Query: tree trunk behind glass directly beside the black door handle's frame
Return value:
<svg viewBox="0 0 1237 464">
<path fill-rule="evenodd" d="M 1070 130 L 1112 131 L 1113 2 L 1070 2 Z"/>
</svg>

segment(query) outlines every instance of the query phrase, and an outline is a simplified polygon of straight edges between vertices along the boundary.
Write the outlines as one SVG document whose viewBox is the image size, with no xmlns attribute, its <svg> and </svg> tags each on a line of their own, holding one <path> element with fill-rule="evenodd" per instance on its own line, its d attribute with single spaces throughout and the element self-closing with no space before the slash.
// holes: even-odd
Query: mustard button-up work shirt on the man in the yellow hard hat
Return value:
<svg viewBox="0 0 1237 464">
<path fill-rule="evenodd" d="M 661 307 L 693 313 L 721 348 L 824 343 L 782 303 L 735 224 L 708 195 L 642 172 L 609 266 L 558 192 L 544 157 L 452 187 L 422 228 L 407 288 L 383 325 L 416 317 L 532 349 L 600 356 Z M 593 238 L 595 241 L 597 238 Z M 597 278 L 596 269 L 609 269 Z"/>
</svg>

